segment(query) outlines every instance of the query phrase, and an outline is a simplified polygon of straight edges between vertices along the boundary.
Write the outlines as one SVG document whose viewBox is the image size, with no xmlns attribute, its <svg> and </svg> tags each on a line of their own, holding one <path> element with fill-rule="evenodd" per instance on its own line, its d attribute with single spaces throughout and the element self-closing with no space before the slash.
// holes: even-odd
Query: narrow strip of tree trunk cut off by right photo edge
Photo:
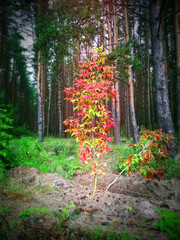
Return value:
<svg viewBox="0 0 180 240">
<path fill-rule="evenodd" d="M 180 139 L 180 3 L 174 0 L 174 30 L 175 30 L 175 47 L 176 47 L 176 112 L 177 112 L 177 132 Z"/>
</svg>

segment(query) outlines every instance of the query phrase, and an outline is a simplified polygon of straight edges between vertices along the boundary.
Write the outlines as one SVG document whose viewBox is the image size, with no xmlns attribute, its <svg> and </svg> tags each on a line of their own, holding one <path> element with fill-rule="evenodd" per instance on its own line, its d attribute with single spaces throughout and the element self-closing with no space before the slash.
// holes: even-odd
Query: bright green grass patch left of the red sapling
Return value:
<svg viewBox="0 0 180 240">
<path fill-rule="evenodd" d="M 38 144 L 36 137 L 22 137 L 11 141 L 10 167 L 24 165 L 34 167 L 42 172 L 58 173 L 71 179 L 77 170 L 87 171 L 79 162 L 78 143 L 72 138 L 44 139 Z"/>
</svg>

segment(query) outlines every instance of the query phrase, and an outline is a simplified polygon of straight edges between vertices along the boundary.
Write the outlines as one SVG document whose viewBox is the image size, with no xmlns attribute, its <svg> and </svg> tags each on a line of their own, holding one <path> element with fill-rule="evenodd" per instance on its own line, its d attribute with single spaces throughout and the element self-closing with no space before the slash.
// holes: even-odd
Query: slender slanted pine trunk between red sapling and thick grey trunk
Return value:
<svg viewBox="0 0 180 240">
<path fill-rule="evenodd" d="M 126 0 L 124 1 L 124 4 L 127 4 Z M 127 8 L 124 5 L 123 5 L 123 25 L 124 25 L 124 42 L 128 43 L 129 41 L 128 13 L 127 13 Z M 132 130 L 133 130 L 133 139 L 134 139 L 134 142 L 137 143 L 139 142 L 139 136 L 138 136 L 136 116 L 135 116 L 134 91 L 133 91 L 131 65 L 128 65 L 128 74 L 129 74 L 129 103 L 130 103 Z"/>
</svg>

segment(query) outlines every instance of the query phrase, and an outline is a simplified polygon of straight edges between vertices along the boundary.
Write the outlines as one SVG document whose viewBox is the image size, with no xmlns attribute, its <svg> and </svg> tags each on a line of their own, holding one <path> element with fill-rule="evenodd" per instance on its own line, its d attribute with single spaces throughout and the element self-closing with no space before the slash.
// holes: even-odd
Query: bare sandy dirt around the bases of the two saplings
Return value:
<svg viewBox="0 0 180 240">
<path fill-rule="evenodd" d="M 19 219 L 19 212 L 32 206 L 46 206 L 53 213 L 74 204 L 80 213 L 76 219 L 65 224 L 69 230 L 73 228 L 84 231 L 101 226 L 105 231 L 121 232 L 128 229 L 141 239 L 163 240 L 167 237 L 156 227 L 158 213 L 155 210 L 165 208 L 180 213 L 180 181 L 176 179 L 149 181 L 140 175 L 121 176 L 105 196 L 107 186 L 117 177 L 116 174 L 105 172 L 105 175 L 98 178 L 97 192 L 92 199 L 94 183 L 91 173 L 79 173 L 72 181 L 68 181 L 58 174 L 42 173 L 34 168 L 19 166 L 11 170 L 10 174 L 15 183 L 24 186 L 23 192 L 26 192 L 1 192 L 1 203 L 12 206 L 11 219 Z M 42 227 L 48 225 L 49 221 L 48 215 L 32 216 L 21 220 L 19 228 Z M 52 216 L 51 222 L 53 221 L 55 217 Z M 17 232 L 10 238 L 24 239 Z M 63 238 L 51 236 L 47 239 Z"/>
</svg>

